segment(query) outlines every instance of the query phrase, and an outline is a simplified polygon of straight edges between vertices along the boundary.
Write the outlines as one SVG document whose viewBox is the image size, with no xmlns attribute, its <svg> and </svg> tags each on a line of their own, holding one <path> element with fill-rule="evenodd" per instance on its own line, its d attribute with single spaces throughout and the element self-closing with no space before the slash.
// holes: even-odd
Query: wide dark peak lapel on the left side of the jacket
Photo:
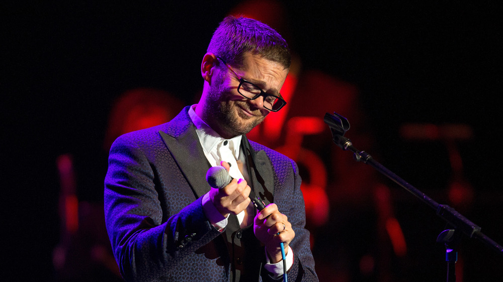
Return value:
<svg viewBox="0 0 503 282">
<path fill-rule="evenodd" d="M 159 134 L 196 198 L 206 194 L 210 190 L 206 182 L 206 172 L 210 164 L 204 156 L 196 129 L 190 120 L 188 107 L 168 122 L 165 132 L 161 130 Z"/>
</svg>

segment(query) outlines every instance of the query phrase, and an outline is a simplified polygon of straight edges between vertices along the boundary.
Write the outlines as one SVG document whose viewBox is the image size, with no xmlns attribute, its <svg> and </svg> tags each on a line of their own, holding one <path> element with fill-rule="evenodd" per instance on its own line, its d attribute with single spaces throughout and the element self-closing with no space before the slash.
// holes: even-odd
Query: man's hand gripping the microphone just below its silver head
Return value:
<svg viewBox="0 0 503 282">
<path fill-rule="evenodd" d="M 229 171 L 227 162 L 220 162 L 220 165 Z M 215 208 L 225 217 L 238 214 L 250 203 L 251 188 L 244 179 L 232 179 L 232 181 L 222 189 L 211 188 L 209 196 Z"/>
</svg>

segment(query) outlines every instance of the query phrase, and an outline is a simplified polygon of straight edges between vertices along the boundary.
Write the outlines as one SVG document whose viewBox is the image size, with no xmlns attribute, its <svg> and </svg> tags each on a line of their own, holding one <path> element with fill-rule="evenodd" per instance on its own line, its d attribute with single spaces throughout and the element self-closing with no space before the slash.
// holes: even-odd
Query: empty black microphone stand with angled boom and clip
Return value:
<svg viewBox="0 0 503 282">
<path fill-rule="evenodd" d="M 359 151 L 353 147 L 353 143 L 347 137 L 344 137 L 346 131 L 349 130 L 350 124 L 344 116 L 334 112 L 333 114 L 325 113 L 324 122 L 330 127 L 332 132 L 333 142 L 344 151 L 354 153 L 355 160 L 364 164 L 370 165 L 378 172 L 391 179 L 396 184 L 403 187 L 412 195 L 416 196 L 431 208 L 437 215 L 443 218 L 452 228 L 444 230 L 437 238 L 437 242 L 442 242 L 446 246 L 446 261 L 447 261 L 447 281 L 455 282 L 455 263 L 457 261 L 457 247 L 461 240 L 461 234 L 465 234 L 469 238 L 476 238 L 485 243 L 489 248 L 503 255 L 503 247 L 480 232 L 481 228 L 468 220 L 462 214 L 454 210 L 448 205 L 441 205 L 428 197 L 426 194 L 408 184 L 405 180 L 398 177 L 396 174 L 379 164 L 365 151 Z"/>
</svg>

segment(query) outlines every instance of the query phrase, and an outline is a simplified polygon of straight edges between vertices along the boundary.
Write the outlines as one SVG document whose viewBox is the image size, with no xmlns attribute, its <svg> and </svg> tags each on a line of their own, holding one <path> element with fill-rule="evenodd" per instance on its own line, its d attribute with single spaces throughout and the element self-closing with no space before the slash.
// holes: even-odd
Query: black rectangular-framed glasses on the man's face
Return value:
<svg viewBox="0 0 503 282">
<path fill-rule="evenodd" d="M 258 97 L 262 96 L 264 97 L 264 107 L 270 111 L 279 111 L 284 105 L 286 105 L 286 101 L 281 97 L 281 94 L 279 96 L 273 95 L 273 94 L 268 94 L 262 90 L 259 86 L 244 80 L 242 77 L 240 77 L 234 69 L 232 69 L 227 62 L 225 62 L 224 59 L 222 59 L 219 56 L 216 56 L 218 59 L 220 59 L 226 66 L 227 68 L 234 73 L 234 75 L 239 79 L 239 86 L 237 86 L 237 92 L 241 94 L 241 96 L 245 97 L 246 99 L 250 100 L 255 100 Z"/>
</svg>

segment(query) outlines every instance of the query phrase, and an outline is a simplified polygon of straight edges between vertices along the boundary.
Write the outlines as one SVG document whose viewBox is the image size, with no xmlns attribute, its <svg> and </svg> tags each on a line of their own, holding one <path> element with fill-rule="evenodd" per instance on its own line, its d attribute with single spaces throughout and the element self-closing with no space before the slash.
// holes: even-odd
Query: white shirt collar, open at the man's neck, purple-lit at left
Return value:
<svg viewBox="0 0 503 282">
<path fill-rule="evenodd" d="M 237 135 L 230 139 L 222 138 L 215 130 L 213 130 L 213 128 L 206 124 L 206 122 L 204 122 L 204 120 L 196 114 L 194 110 L 196 106 L 197 104 L 194 104 L 189 108 L 189 116 L 196 126 L 196 133 L 199 137 L 199 141 L 203 147 L 205 155 L 211 154 L 213 150 L 216 150 L 216 147 L 219 144 L 222 144 L 225 140 L 227 140 L 227 142 L 229 142 L 229 149 L 231 149 L 234 157 L 238 159 L 242 135 Z"/>
</svg>

